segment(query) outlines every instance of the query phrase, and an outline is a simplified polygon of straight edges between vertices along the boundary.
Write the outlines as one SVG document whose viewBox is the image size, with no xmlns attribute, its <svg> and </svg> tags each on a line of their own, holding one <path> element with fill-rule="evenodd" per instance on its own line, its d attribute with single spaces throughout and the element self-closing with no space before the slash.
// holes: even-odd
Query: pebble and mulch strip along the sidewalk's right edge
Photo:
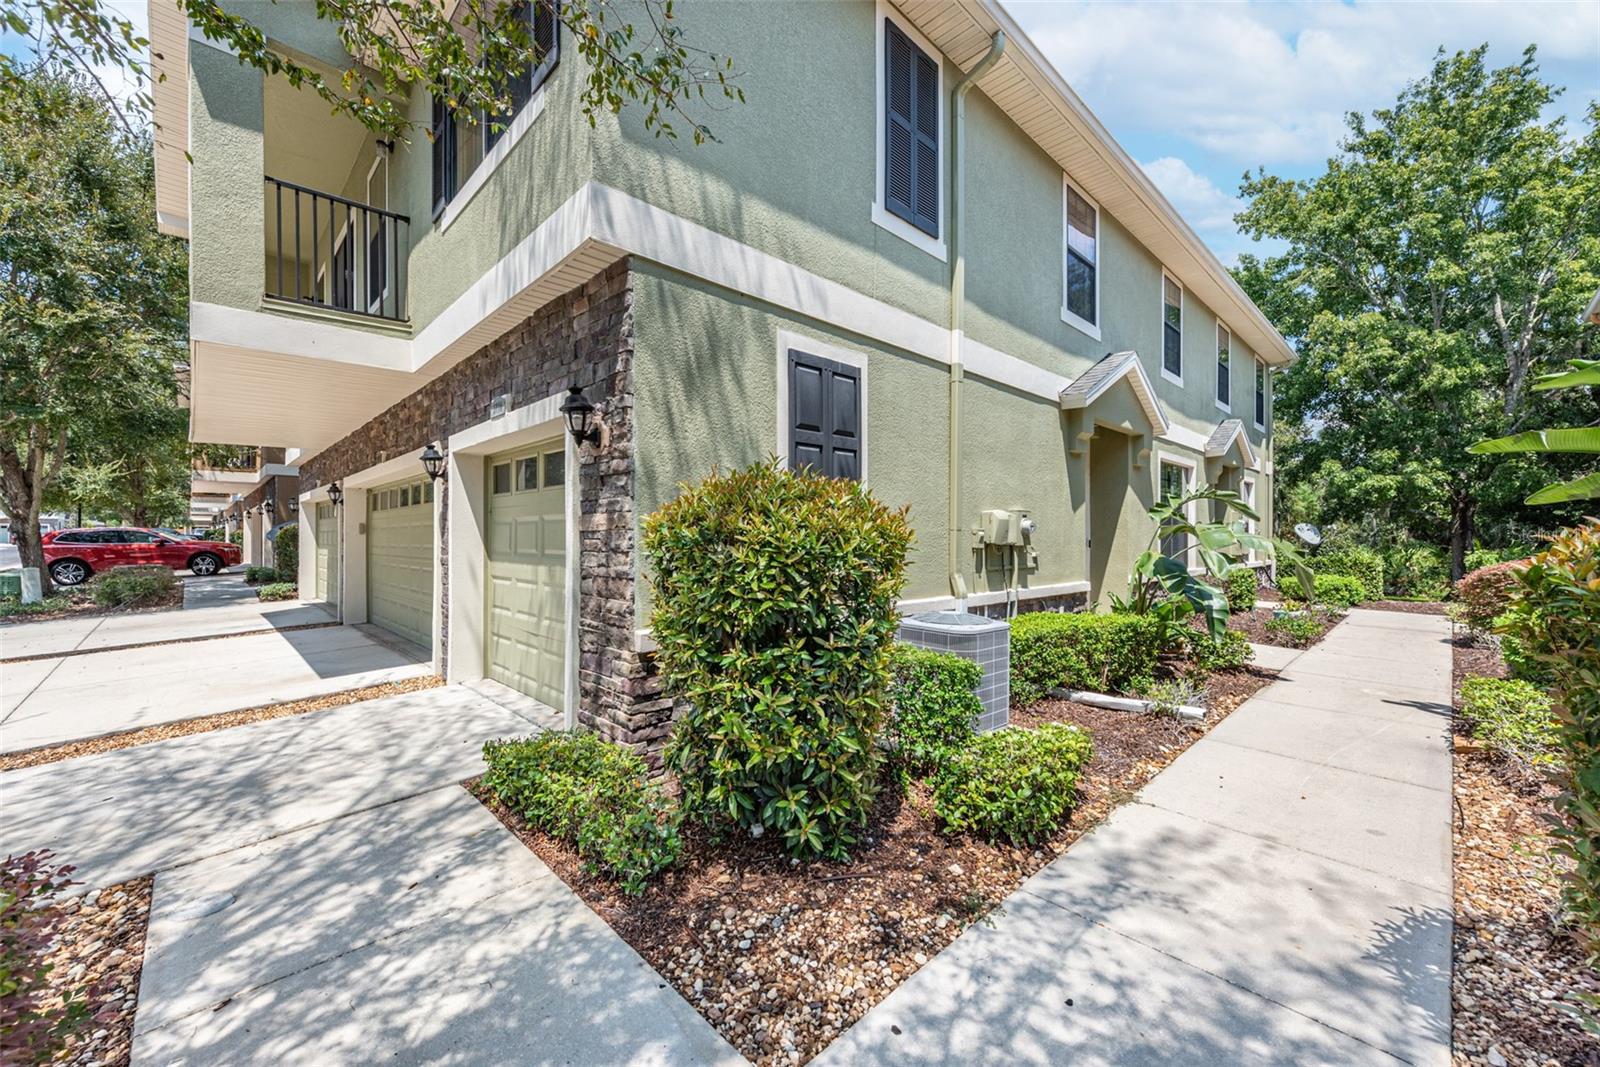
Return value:
<svg viewBox="0 0 1600 1067">
<path fill-rule="evenodd" d="M 1499 651 L 1464 630 L 1454 680 L 1504 677 Z M 1459 718 L 1454 750 L 1456 1064 L 1600 1065 L 1600 1041 L 1562 1011 L 1579 992 L 1600 995 L 1600 974 L 1560 926 L 1557 877 L 1546 849 L 1555 784 L 1520 760 L 1480 749 Z"/>
</svg>

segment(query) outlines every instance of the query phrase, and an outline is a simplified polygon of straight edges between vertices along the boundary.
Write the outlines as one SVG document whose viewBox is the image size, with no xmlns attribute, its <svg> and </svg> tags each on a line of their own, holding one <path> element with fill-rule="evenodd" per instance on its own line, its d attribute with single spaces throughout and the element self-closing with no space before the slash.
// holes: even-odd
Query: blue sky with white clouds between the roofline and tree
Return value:
<svg viewBox="0 0 1600 1067">
<path fill-rule="evenodd" d="M 1507 66 L 1538 45 L 1570 130 L 1600 98 L 1600 0 L 1003 2 L 1224 262 L 1262 251 L 1232 224 L 1240 174 L 1320 173 L 1344 114 L 1392 104 L 1440 46 Z"/>
</svg>

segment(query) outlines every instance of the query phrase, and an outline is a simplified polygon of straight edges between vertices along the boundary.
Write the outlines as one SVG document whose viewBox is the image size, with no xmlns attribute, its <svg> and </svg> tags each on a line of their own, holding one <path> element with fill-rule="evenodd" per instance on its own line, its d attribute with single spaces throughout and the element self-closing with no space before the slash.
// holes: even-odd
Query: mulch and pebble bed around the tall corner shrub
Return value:
<svg viewBox="0 0 1600 1067">
<path fill-rule="evenodd" d="M 800 1064 L 1274 677 L 1213 675 L 1205 723 L 1069 701 L 1013 709 L 1018 725 L 1075 723 L 1094 737 L 1072 817 L 1037 848 L 941 833 L 926 785 L 910 782 L 878 797 L 850 864 L 800 865 L 771 838 L 691 824 L 680 865 L 627 897 L 477 779 L 466 785 L 744 1056 Z"/>
</svg>

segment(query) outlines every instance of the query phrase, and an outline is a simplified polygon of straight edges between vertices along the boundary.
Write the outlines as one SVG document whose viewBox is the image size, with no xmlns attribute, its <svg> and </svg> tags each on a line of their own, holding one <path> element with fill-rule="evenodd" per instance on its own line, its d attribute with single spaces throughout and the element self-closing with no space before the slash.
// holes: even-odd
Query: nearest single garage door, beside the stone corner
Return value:
<svg viewBox="0 0 1600 1067">
<path fill-rule="evenodd" d="M 562 709 L 566 677 L 565 442 L 488 462 L 488 625 L 483 672 Z"/>
</svg>

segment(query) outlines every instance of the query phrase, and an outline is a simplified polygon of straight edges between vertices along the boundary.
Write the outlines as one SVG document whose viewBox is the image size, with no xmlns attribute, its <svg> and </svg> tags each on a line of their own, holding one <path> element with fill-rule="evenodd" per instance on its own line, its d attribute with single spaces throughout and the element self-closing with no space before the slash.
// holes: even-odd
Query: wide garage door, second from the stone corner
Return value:
<svg viewBox="0 0 1600 1067">
<path fill-rule="evenodd" d="M 366 493 L 366 621 L 434 645 L 434 485 Z"/>
</svg>

